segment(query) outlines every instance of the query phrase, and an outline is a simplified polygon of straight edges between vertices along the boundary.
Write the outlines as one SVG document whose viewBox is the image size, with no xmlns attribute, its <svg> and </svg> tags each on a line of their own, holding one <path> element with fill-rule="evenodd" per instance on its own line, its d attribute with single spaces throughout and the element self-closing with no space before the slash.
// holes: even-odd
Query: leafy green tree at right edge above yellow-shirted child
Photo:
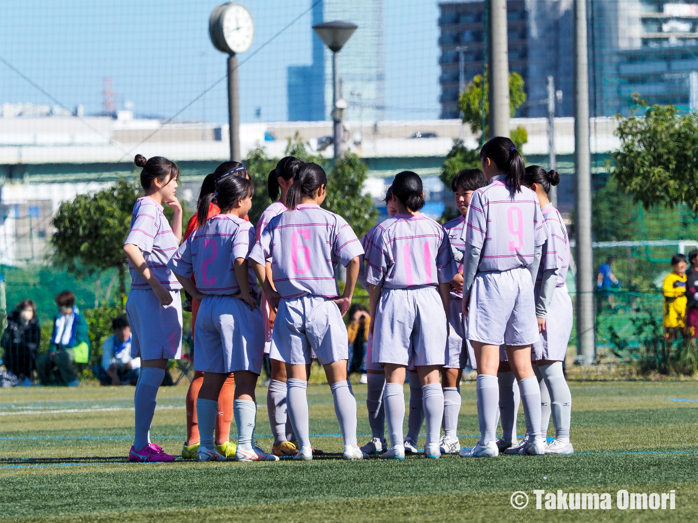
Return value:
<svg viewBox="0 0 698 523">
<path fill-rule="evenodd" d="M 618 115 L 614 155 L 618 186 L 644 207 L 685 202 L 698 212 L 698 114 L 679 115 L 674 105 L 651 105 L 644 117 Z"/>
</svg>

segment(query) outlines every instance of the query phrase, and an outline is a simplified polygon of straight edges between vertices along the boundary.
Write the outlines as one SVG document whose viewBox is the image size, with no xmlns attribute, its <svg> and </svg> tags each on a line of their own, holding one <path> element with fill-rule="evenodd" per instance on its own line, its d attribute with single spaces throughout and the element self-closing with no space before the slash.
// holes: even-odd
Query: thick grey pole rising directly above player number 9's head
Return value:
<svg viewBox="0 0 698 523">
<path fill-rule="evenodd" d="M 509 52 L 507 0 L 489 3 L 489 130 L 491 136 L 509 136 Z"/>
</svg>

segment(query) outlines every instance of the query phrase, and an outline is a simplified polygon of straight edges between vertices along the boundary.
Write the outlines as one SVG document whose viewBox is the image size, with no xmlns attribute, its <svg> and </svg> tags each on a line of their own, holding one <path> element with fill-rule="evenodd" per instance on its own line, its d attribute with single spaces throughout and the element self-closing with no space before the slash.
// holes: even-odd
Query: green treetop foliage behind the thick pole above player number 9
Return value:
<svg viewBox="0 0 698 523">
<path fill-rule="evenodd" d="M 484 75 L 484 135 L 489 138 L 489 80 L 487 71 Z M 523 78 L 519 73 L 509 73 L 509 107 L 510 116 L 514 117 L 517 110 L 526 101 L 526 91 L 523 90 Z M 475 75 L 466 90 L 458 99 L 458 108 L 463 113 L 463 123 L 470 124 L 473 133 L 482 133 L 483 117 L 482 75 Z M 528 134 L 523 127 L 514 128 L 511 132 L 512 142 L 518 149 L 528 142 Z"/>
</svg>

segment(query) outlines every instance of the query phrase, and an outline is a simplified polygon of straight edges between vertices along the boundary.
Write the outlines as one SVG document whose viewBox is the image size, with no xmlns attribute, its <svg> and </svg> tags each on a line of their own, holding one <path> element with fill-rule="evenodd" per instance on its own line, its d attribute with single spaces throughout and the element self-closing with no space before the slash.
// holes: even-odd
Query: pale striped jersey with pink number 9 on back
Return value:
<svg viewBox="0 0 698 523">
<path fill-rule="evenodd" d="M 493 177 L 473 193 L 461 238 L 482 249 L 480 272 L 530 267 L 535 247 L 547 240 L 536 193 L 524 186 L 514 191 L 505 184 L 505 175 Z"/>
</svg>

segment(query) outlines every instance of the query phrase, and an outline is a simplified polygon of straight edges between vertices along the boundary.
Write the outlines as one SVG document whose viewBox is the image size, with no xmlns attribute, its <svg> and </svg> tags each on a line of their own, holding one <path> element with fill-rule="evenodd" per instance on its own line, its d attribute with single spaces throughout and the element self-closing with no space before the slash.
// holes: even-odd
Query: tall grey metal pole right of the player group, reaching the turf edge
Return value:
<svg viewBox="0 0 698 523">
<path fill-rule="evenodd" d="M 577 343 L 579 363 L 594 362 L 594 286 L 591 248 L 591 157 L 589 154 L 589 71 L 586 54 L 586 0 L 574 0 L 574 174 L 577 236 Z"/>
</svg>

